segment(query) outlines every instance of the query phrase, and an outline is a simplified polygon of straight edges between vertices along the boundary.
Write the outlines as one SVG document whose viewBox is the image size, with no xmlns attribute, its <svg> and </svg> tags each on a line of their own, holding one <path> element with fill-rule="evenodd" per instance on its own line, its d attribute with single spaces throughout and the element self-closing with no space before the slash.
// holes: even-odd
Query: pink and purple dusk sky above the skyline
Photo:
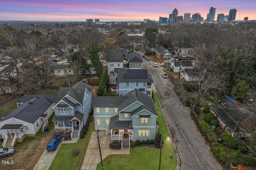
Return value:
<svg viewBox="0 0 256 170">
<path fill-rule="evenodd" d="M 236 20 L 256 20 L 256 0 L 0 0 L 1 21 L 143 21 L 169 17 L 174 8 L 178 15 L 200 13 L 204 20 L 210 7 L 216 16 L 235 8 Z"/>
</svg>

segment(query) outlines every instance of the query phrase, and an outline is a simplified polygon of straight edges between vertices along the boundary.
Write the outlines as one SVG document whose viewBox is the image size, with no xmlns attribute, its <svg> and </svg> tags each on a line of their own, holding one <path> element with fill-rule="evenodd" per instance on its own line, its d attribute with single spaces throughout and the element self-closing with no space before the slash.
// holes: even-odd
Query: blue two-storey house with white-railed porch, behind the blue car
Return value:
<svg viewBox="0 0 256 170">
<path fill-rule="evenodd" d="M 59 88 L 52 119 L 56 131 L 66 131 L 72 139 L 80 137 L 92 106 L 92 88 L 83 81 Z"/>
</svg>

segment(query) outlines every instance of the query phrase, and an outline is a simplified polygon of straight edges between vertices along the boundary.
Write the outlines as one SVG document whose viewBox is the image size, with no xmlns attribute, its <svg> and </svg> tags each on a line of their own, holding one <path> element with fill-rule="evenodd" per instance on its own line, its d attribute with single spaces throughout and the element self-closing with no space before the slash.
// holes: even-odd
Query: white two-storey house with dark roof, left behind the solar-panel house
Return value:
<svg viewBox="0 0 256 170">
<path fill-rule="evenodd" d="M 107 51 L 108 74 L 110 75 L 110 84 L 116 84 L 115 68 L 124 67 L 124 51 L 108 50 Z"/>
</svg>

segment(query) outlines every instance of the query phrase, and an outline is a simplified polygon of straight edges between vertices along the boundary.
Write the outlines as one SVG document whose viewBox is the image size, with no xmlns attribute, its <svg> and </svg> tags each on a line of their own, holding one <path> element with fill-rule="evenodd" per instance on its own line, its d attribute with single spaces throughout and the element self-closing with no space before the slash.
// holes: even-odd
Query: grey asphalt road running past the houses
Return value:
<svg viewBox="0 0 256 170">
<path fill-rule="evenodd" d="M 145 59 L 143 63 L 154 80 L 158 100 L 180 157 L 180 170 L 221 170 L 190 118 L 190 110 L 182 105 L 168 78 L 163 78 L 162 69 Z"/>
</svg>

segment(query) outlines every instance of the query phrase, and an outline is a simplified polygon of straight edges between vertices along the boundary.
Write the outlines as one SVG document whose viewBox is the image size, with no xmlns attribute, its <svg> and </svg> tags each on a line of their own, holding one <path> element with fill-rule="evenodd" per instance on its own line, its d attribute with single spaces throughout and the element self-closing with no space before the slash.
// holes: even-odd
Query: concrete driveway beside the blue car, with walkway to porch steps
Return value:
<svg viewBox="0 0 256 170">
<path fill-rule="evenodd" d="M 42 153 L 42 156 L 39 158 L 38 162 L 34 166 L 33 170 L 48 170 L 58 150 L 60 149 L 60 146 L 62 145 L 62 143 L 76 143 L 77 141 L 78 139 L 64 141 L 64 138 L 62 138 L 62 141 L 59 143 L 56 150 L 48 151 L 45 149 L 44 152 Z"/>
</svg>

